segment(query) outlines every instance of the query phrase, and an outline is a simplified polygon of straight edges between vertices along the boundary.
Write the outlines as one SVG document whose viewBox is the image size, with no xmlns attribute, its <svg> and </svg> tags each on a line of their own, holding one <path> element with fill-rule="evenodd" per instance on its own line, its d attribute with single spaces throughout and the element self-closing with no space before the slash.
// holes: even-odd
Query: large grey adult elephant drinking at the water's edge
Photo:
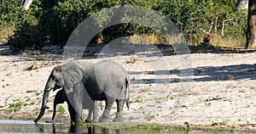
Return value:
<svg viewBox="0 0 256 134">
<path fill-rule="evenodd" d="M 56 66 L 51 71 L 44 87 L 41 111 L 38 118 L 34 120 L 35 123 L 44 115 L 49 92 L 61 87 L 67 95 L 71 122 L 77 123 L 82 120 L 83 90 L 88 92 L 92 101 L 105 101 L 106 105 L 99 118 L 100 122 L 108 122 L 109 112 L 114 102 L 117 103 L 114 122 L 123 120 L 125 103 L 130 109 L 130 79 L 120 64 L 112 60 L 102 60 L 98 63 L 71 60 Z"/>
</svg>

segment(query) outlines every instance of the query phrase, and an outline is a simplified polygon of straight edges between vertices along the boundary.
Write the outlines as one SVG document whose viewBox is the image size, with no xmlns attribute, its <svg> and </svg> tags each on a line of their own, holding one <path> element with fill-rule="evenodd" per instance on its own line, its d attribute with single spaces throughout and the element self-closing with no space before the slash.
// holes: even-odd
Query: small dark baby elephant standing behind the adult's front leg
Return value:
<svg viewBox="0 0 256 134">
<path fill-rule="evenodd" d="M 64 102 L 67 102 L 68 103 L 68 99 L 67 99 L 67 96 L 66 96 L 66 92 L 65 90 L 62 88 L 60 91 L 58 91 L 55 95 L 55 100 L 54 100 L 54 111 L 53 111 L 53 115 L 52 115 L 52 120 L 55 119 L 55 114 L 56 114 L 56 107 L 57 107 L 57 104 L 59 103 L 64 103 Z M 87 119 L 85 120 L 85 122 L 98 122 L 97 120 L 97 103 L 96 101 L 93 102 L 91 99 L 90 99 L 90 96 L 88 95 L 88 99 L 84 100 L 84 102 L 86 103 L 83 103 L 83 109 L 89 109 L 89 113 L 88 113 L 88 116 L 87 116 Z M 91 120 L 91 114 L 93 112 L 93 119 Z"/>
</svg>

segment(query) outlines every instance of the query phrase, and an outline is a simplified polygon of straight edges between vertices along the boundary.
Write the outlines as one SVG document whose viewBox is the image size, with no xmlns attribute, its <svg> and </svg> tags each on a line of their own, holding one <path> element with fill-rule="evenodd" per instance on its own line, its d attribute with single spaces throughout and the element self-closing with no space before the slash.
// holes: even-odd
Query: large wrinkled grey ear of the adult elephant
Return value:
<svg viewBox="0 0 256 134">
<path fill-rule="evenodd" d="M 67 64 L 62 64 L 61 70 L 66 93 L 73 92 L 73 87 L 83 79 L 83 67 L 78 61 L 69 61 Z"/>
</svg>

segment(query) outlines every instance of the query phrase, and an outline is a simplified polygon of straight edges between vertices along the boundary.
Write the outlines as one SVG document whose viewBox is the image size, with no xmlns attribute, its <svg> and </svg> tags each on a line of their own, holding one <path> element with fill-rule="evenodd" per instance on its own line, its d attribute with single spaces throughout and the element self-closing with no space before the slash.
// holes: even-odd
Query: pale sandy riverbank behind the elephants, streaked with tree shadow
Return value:
<svg viewBox="0 0 256 134">
<path fill-rule="evenodd" d="M 8 46 L 0 46 L 1 120 L 37 117 L 50 71 L 67 61 L 58 48 L 50 48 L 53 49 L 56 51 L 9 54 Z M 192 126 L 218 124 L 255 129 L 255 52 L 189 53 L 179 57 L 148 51 L 85 60 L 102 59 L 118 62 L 131 77 L 131 109 L 124 107 L 125 122 L 174 126 L 189 122 Z M 191 70 L 193 74 L 189 74 Z M 49 109 L 42 120 L 51 121 L 55 93 L 50 94 Z M 61 105 L 65 112 L 55 119 L 69 121 L 67 104 Z M 113 105 L 111 119 L 115 111 Z M 101 115 L 102 109 L 98 112 Z"/>
</svg>

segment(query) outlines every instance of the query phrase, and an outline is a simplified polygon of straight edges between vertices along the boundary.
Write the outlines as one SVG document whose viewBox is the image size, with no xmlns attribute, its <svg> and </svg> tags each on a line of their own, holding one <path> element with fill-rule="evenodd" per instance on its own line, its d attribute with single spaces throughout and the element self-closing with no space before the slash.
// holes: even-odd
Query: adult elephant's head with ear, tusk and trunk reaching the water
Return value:
<svg viewBox="0 0 256 134">
<path fill-rule="evenodd" d="M 79 62 L 69 61 L 67 64 L 56 66 L 50 73 L 48 81 L 44 87 L 44 96 L 42 107 L 38 118 L 34 120 L 38 122 L 44 115 L 46 104 L 49 98 L 49 92 L 63 87 L 66 93 L 73 92 L 73 86 L 83 78 L 83 68 Z M 64 91 L 64 90 L 63 90 Z"/>
</svg>

